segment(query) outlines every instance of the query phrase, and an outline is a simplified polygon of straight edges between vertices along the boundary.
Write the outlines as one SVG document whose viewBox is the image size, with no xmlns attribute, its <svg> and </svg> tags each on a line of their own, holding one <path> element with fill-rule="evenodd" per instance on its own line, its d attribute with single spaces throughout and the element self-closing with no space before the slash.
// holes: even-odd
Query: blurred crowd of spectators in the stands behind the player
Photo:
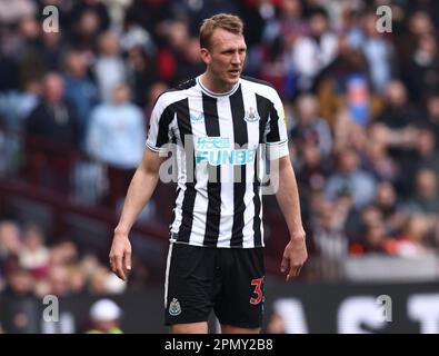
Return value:
<svg viewBox="0 0 439 356">
<path fill-rule="evenodd" d="M 58 32 L 42 30 L 49 4 Z M 377 31 L 382 4 L 390 32 Z M 217 12 L 242 17 L 246 75 L 282 97 L 311 257 L 437 251 L 432 0 L 1 0 L 0 177 L 120 206 L 154 100 L 202 72 L 198 28 Z M 38 226 L 2 219 L 0 278 L 16 271 L 12 290 L 123 289 L 73 243 L 49 246 Z"/>
</svg>

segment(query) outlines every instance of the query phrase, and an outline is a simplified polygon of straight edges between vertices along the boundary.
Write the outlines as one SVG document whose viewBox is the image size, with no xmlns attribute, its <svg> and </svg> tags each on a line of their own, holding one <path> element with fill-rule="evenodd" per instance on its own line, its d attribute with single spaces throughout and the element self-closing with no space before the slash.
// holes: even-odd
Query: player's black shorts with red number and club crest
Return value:
<svg viewBox="0 0 439 356">
<path fill-rule="evenodd" d="M 219 322 L 243 328 L 262 325 L 262 248 L 170 245 L 164 285 L 166 325 Z"/>
</svg>

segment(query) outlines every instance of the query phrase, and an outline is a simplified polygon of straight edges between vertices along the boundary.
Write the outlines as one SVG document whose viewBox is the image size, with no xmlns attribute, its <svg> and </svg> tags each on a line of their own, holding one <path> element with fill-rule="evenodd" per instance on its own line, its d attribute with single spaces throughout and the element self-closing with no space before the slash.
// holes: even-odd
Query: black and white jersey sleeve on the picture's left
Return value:
<svg viewBox="0 0 439 356">
<path fill-rule="evenodd" d="M 154 152 L 168 151 L 167 145 L 172 139 L 172 127 L 171 122 L 173 119 L 173 112 L 169 106 L 167 106 L 163 96 L 161 96 L 153 109 L 149 120 L 147 147 Z"/>
</svg>

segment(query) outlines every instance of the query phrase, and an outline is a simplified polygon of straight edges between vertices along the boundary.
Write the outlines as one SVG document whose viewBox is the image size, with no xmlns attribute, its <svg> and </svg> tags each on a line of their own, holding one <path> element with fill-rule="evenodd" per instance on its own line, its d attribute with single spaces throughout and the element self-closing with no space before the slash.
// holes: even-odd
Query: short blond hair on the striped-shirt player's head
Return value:
<svg viewBox="0 0 439 356">
<path fill-rule="evenodd" d="M 218 13 L 204 19 L 200 27 L 200 47 L 210 49 L 210 38 L 216 29 L 223 29 L 235 34 L 243 34 L 241 18 L 230 13 Z"/>
</svg>

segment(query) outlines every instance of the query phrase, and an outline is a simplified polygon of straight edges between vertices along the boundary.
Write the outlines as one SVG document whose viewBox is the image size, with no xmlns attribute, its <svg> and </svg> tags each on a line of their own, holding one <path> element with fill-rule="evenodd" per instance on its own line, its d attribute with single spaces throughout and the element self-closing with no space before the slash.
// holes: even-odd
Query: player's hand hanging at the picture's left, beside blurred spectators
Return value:
<svg viewBox="0 0 439 356">
<path fill-rule="evenodd" d="M 122 280 L 127 280 L 131 269 L 131 244 L 128 235 L 114 234 L 110 251 L 111 270 Z"/>
</svg>

